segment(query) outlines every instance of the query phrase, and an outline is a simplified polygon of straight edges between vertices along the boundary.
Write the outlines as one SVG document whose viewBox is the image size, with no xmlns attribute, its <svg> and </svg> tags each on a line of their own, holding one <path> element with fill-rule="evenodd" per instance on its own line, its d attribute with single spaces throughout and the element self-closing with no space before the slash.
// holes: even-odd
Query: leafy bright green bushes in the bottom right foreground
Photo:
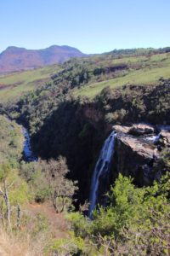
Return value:
<svg viewBox="0 0 170 256">
<path fill-rule="evenodd" d="M 136 188 L 120 175 L 93 220 L 81 212 L 68 215 L 80 255 L 167 255 L 170 232 L 169 174 L 149 188 Z M 66 247 L 67 245 L 67 247 Z M 68 250 L 69 243 L 65 241 Z M 66 250 L 65 250 L 66 252 Z M 74 253 L 73 253 L 74 254 Z M 76 254 L 76 253 L 75 253 Z"/>
</svg>

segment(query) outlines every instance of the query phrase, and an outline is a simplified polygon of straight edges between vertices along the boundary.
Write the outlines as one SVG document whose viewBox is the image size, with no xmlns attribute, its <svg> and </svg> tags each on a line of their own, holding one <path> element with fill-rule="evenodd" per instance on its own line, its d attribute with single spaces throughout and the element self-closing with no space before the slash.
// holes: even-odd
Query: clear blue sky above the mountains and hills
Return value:
<svg viewBox="0 0 170 256">
<path fill-rule="evenodd" d="M 0 52 L 71 45 L 85 53 L 170 46 L 170 0 L 2 0 Z"/>
</svg>

